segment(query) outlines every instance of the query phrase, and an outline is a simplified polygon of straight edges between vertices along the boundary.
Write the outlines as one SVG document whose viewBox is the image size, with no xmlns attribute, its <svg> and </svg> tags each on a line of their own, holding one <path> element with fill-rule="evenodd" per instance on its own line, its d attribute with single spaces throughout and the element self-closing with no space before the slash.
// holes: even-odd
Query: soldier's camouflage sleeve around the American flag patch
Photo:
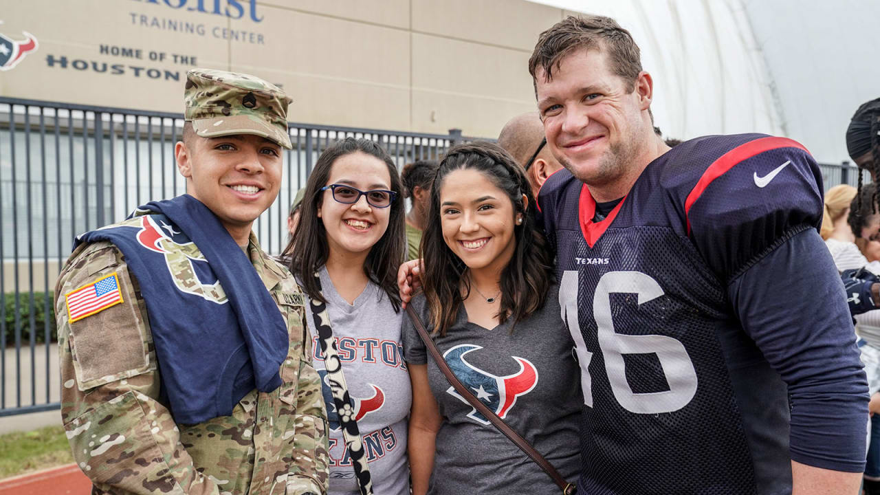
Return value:
<svg viewBox="0 0 880 495">
<path fill-rule="evenodd" d="M 116 274 L 122 302 L 70 322 L 65 294 Z M 62 422 L 96 492 L 217 494 L 158 403 L 159 377 L 136 280 L 107 243 L 78 248 L 55 287 Z"/>
</svg>

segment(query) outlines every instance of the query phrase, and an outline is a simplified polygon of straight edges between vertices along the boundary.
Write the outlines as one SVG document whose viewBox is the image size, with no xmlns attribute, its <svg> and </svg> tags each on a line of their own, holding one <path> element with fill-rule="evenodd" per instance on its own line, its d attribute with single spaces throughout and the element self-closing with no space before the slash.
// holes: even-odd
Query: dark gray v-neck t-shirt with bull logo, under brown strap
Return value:
<svg viewBox="0 0 880 495">
<path fill-rule="evenodd" d="M 451 329 L 435 342 L 459 380 L 532 447 L 562 477 L 576 481 L 580 470 L 580 369 L 574 343 L 562 323 L 558 287 L 547 293 L 538 312 L 520 321 L 484 329 L 467 321 L 464 307 Z M 423 295 L 413 300 L 429 332 L 433 331 Z M 431 391 L 443 424 L 429 494 L 557 493 L 553 480 L 494 425 L 458 396 L 436 366 L 408 318 L 403 345 L 407 362 L 428 364 Z"/>
</svg>

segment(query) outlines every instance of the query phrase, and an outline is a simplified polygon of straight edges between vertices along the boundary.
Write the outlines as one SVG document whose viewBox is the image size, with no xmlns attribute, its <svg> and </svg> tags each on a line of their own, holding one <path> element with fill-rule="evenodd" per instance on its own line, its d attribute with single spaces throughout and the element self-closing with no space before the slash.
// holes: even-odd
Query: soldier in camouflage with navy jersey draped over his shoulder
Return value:
<svg viewBox="0 0 880 495">
<path fill-rule="evenodd" d="M 94 493 L 325 493 L 301 294 L 251 230 L 281 184 L 290 98 L 220 70 L 190 70 L 184 98 L 187 195 L 80 236 L 58 279 L 70 447 Z"/>
</svg>

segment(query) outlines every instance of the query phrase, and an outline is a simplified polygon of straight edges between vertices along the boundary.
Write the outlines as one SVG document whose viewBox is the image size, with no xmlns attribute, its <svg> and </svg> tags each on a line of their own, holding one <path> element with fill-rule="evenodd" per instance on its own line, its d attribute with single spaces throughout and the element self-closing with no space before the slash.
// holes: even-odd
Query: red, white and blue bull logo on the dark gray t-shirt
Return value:
<svg viewBox="0 0 880 495">
<path fill-rule="evenodd" d="M 507 413 L 517 403 L 517 397 L 528 394 L 538 384 L 538 370 L 528 359 L 512 356 L 519 364 L 519 371 L 507 376 L 496 376 L 473 366 L 465 360 L 465 355 L 468 352 L 479 349 L 482 349 L 479 345 L 457 345 L 446 351 L 444 358 L 452 373 L 455 373 L 455 376 L 458 377 L 458 380 L 461 380 L 465 387 L 473 390 L 473 395 L 476 395 L 481 403 L 486 404 L 489 410 L 492 410 L 498 417 L 503 419 L 507 417 Z M 450 387 L 446 392 L 458 397 L 458 400 L 461 402 L 467 403 L 464 397 L 458 395 L 455 388 Z M 488 419 L 473 408 L 471 408 L 471 412 L 467 414 L 467 417 L 483 425 L 489 424 Z"/>
</svg>

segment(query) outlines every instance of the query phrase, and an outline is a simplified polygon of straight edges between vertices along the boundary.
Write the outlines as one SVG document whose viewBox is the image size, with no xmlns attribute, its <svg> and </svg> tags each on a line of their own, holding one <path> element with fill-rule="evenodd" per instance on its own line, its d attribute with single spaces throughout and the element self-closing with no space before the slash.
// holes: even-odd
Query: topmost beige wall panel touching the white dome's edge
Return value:
<svg viewBox="0 0 880 495">
<path fill-rule="evenodd" d="M 560 9 L 511 0 L 412 0 L 413 31 L 527 50 Z"/>
</svg>

